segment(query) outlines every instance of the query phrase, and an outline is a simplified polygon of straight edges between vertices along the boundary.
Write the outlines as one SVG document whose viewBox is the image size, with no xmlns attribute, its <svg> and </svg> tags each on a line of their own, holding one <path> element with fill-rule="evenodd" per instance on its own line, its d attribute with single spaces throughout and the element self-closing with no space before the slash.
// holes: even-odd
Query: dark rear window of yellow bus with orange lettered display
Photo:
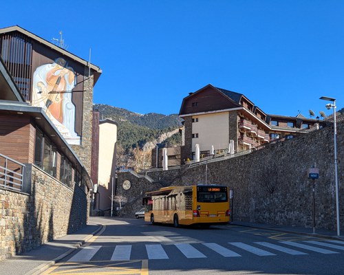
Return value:
<svg viewBox="0 0 344 275">
<path fill-rule="evenodd" d="M 227 187 L 225 186 L 197 186 L 197 201 L 199 202 L 228 201 Z"/>
</svg>

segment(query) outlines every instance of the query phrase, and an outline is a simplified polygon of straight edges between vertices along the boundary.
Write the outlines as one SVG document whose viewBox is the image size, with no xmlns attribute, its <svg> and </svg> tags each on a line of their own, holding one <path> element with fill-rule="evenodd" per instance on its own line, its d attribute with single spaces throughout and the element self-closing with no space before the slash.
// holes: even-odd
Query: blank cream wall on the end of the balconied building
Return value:
<svg viewBox="0 0 344 275">
<path fill-rule="evenodd" d="M 192 140 L 193 152 L 197 143 L 200 144 L 200 151 L 210 151 L 212 145 L 215 150 L 228 149 L 228 112 L 195 115 L 193 118 L 198 118 L 198 122 L 192 124 L 192 133 L 198 133 L 198 138 Z"/>
</svg>

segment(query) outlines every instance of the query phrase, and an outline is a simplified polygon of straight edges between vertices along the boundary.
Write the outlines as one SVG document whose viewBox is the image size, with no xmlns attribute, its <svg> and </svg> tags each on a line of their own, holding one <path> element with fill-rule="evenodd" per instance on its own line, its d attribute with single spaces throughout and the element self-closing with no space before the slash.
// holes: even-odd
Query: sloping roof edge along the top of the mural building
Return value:
<svg viewBox="0 0 344 275">
<path fill-rule="evenodd" d="M 64 56 L 67 56 L 73 59 L 74 61 L 77 61 L 78 63 L 84 65 L 85 67 L 90 67 L 96 73 L 96 76 L 94 77 L 94 84 L 96 84 L 96 81 L 98 80 L 100 74 L 102 73 L 102 70 L 100 69 L 100 67 L 93 65 L 92 63 L 89 63 L 89 61 L 85 61 L 83 58 L 80 58 L 76 56 L 75 54 L 72 54 L 71 52 L 68 52 L 67 50 L 61 47 L 56 46 L 54 43 L 51 43 L 49 41 L 46 41 L 45 39 L 42 39 L 36 34 L 32 34 L 32 32 L 29 32 L 28 30 L 25 30 L 19 27 L 19 25 L 14 25 L 12 27 L 0 29 L 0 34 L 6 34 L 8 32 L 20 32 L 21 34 L 25 34 L 31 39 L 34 39 L 35 41 L 38 41 L 39 43 L 42 43 L 43 45 L 50 47 L 52 50 L 56 50 L 57 52 L 60 52 Z"/>
</svg>

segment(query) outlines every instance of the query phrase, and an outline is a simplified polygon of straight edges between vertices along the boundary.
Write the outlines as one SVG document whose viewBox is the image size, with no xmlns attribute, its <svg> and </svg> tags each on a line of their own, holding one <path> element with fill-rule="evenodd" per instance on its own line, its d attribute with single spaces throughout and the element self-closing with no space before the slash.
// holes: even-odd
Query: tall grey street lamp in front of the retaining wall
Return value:
<svg viewBox="0 0 344 275">
<path fill-rule="evenodd" d="M 336 126 L 336 99 L 328 98 L 327 96 L 321 96 L 321 100 L 332 101 L 333 103 L 326 104 L 327 110 L 333 107 L 333 133 L 334 133 L 334 178 L 336 181 L 336 220 L 337 220 L 337 236 L 341 236 L 340 223 L 339 223 L 339 199 L 338 199 L 338 168 L 337 168 L 337 126 Z"/>
</svg>

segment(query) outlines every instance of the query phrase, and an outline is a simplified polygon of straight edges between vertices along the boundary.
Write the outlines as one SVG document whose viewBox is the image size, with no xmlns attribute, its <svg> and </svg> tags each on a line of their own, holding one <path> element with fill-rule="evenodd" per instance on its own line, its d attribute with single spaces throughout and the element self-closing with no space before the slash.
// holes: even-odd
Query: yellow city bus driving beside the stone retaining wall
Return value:
<svg viewBox="0 0 344 275">
<path fill-rule="evenodd" d="M 143 205 L 144 221 L 152 224 L 209 226 L 230 220 L 227 186 L 169 186 L 147 192 Z"/>
</svg>

